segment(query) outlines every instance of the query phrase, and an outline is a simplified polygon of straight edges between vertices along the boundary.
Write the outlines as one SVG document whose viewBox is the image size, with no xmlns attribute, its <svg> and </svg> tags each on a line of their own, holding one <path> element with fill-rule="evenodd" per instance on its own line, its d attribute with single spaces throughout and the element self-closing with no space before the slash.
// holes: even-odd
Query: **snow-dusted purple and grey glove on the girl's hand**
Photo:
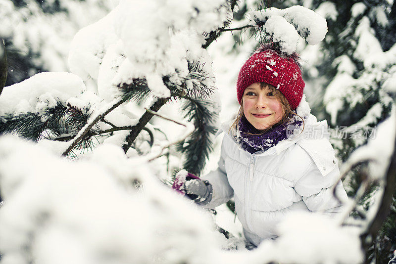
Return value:
<svg viewBox="0 0 396 264">
<path fill-rule="evenodd" d="M 183 193 L 198 205 L 206 205 L 212 199 L 212 185 L 207 180 L 201 180 L 186 170 L 182 170 L 176 175 L 172 189 Z"/>
</svg>

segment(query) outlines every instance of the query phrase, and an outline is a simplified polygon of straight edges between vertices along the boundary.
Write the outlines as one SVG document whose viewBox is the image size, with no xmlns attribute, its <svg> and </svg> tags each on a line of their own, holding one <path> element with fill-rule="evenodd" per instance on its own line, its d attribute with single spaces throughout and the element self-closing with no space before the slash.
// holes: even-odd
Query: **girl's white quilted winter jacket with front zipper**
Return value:
<svg viewBox="0 0 396 264">
<path fill-rule="evenodd" d="M 229 126 L 223 125 L 219 167 L 202 176 L 213 187 L 212 200 L 205 207 L 214 208 L 234 197 L 245 237 L 256 246 L 278 235 L 277 224 L 289 212 L 333 215 L 347 201 L 338 161 L 326 133 L 327 122 L 317 122 L 309 112 L 299 114 L 306 117 L 304 131 L 261 154 L 243 150 L 235 136 L 228 133 Z M 338 199 L 333 195 L 334 185 Z"/>
</svg>

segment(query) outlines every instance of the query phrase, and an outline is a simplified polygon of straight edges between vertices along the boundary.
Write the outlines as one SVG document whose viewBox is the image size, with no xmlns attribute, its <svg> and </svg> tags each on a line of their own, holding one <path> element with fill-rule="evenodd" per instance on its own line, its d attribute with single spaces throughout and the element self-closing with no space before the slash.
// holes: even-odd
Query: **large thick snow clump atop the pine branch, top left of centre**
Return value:
<svg viewBox="0 0 396 264">
<path fill-rule="evenodd" d="M 163 78 L 181 85 L 191 79 L 189 63 L 195 62 L 207 73 L 205 85 L 214 87 L 202 34 L 224 25 L 229 13 L 223 0 L 120 0 L 106 17 L 76 35 L 70 69 L 84 80 L 98 80 L 99 95 L 106 100 L 134 79 L 146 79 L 153 95 L 169 97 Z"/>
</svg>

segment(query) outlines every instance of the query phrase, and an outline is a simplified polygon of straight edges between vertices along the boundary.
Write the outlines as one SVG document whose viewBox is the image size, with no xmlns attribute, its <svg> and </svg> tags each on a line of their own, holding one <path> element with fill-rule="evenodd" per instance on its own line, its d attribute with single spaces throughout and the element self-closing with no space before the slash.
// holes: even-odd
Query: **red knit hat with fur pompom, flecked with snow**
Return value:
<svg viewBox="0 0 396 264">
<path fill-rule="evenodd" d="M 297 58 L 296 53 L 281 57 L 277 51 L 268 48 L 268 45 L 261 46 L 247 59 L 239 72 L 237 81 L 239 104 L 241 104 L 244 91 L 249 85 L 267 83 L 279 89 L 291 107 L 296 109 L 305 87 Z"/>
</svg>

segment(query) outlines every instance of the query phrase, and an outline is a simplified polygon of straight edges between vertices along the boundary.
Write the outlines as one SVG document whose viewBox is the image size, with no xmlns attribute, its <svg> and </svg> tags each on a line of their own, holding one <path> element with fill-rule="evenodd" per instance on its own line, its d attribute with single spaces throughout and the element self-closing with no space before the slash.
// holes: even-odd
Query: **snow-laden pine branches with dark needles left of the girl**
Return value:
<svg viewBox="0 0 396 264">
<path fill-rule="evenodd" d="M 23 131 L 24 137 L 34 140 L 47 137 L 66 141 L 75 137 L 63 150 L 64 155 L 68 155 L 75 147 L 92 146 L 93 140 L 99 140 L 96 135 L 122 137 L 124 131 L 129 130 L 126 139 L 124 136 L 124 139 L 118 140 L 127 152 L 132 143 L 136 143 L 134 141 L 143 129 L 152 137 L 153 132 L 145 126 L 155 114 L 153 112 L 158 111 L 171 98 L 183 99 L 185 117 L 193 121 L 197 130 L 190 139 L 180 143 L 178 149 L 194 160 L 194 163 L 190 162 L 191 159 L 186 160 L 186 169 L 199 174 L 211 149 L 210 136 L 216 131 L 214 110 L 218 107 L 215 101 L 209 100 L 209 95 L 214 90 L 214 76 L 210 58 L 201 47 L 209 40 L 205 40 L 202 34 L 210 36 L 211 32 L 227 23 L 232 4 L 217 1 L 196 5 L 190 2 L 175 9 L 176 5 L 172 1 L 151 2 L 137 8 L 130 1 L 121 1 L 103 19 L 77 33 L 72 43 L 70 68 L 84 81 L 89 78 L 95 81 L 98 79 L 98 95 L 82 88 L 85 91 L 81 95 L 74 95 L 65 101 L 44 85 L 48 90 L 42 90 L 43 96 L 36 94 L 39 102 L 35 101 L 36 97 L 31 99 L 40 105 L 40 109 L 3 113 L 1 130 L 18 133 Z M 134 14 L 134 19 L 131 20 L 130 14 L 125 14 L 125 10 Z M 154 28 L 157 30 L 152 30 L 152 25 L 147 25 L 145 32 L 141 32 L 141 28 L 133 25 L 146 21 L 147 12 L 156 16 L 157 24 Z M 163 13 L 174 13 L 174 16 L 164 17 Z M 131 30 L 133 28 L 136 28 L 135 32 Z M 102 73 L 100 76 L 99 72 Z M 42 77 L 43 83 L 56 82 L 56 78 L 49 74 Z M 40 84 L 29 79 L 16 86 L 36 89 Z M 3 91 L 3 97 L 6 98 L 4 104 L 8 104 L 8 97 L 15 95 L 11 89 L 15 87 Z M 15 97 L 13 99 L 17 100 Z M 145 103 L 148 109 L 143 116 L 139 118 L 125 107 L 119 107 L 109 114 L 131 99 L 147 99 Z M 116 112 L 118 114 L 114 114 Z M 123 131 L 118 132 L 120 130 Z M 51 145 L 60 150 L 64 144 L 61 142 L 58 147 Z M 134 148 L 141 152 L 139 146 Z"/>
</svg>

